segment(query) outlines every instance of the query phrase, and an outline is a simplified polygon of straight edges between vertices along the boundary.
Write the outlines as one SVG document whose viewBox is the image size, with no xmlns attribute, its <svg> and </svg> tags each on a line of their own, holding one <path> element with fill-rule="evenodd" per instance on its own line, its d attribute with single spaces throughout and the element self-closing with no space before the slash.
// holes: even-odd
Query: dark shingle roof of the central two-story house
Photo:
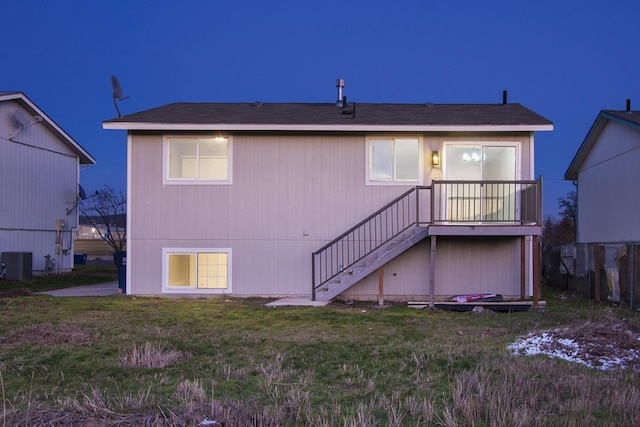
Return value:
<svg viewBox="0 0 640 427">
<path fill-rule="evenodd" d="M 520 104 L 175 103 L 105 121 L 105 124 L 226 124 L 318 126 L 551 126 Z"/>
</svg>

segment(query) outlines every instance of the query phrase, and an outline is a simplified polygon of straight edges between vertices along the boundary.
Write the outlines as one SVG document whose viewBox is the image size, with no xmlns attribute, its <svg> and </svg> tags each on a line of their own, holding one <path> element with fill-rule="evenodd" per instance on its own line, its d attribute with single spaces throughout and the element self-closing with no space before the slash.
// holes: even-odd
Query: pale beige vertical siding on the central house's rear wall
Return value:
<svg viewBox="0 0 640 427">
<path fill-rule="evenodd" d="M 428 184 L 432 176 L 437 177 L 440 169 L 432 172 L 430 155 L 431 150 L 442 149 L 444 140 L 517 140 L 524 147 L 529 137 L 529 133 L 499 138 L 424 135 L 423 182 Z M 311 253 L 413 187 L 366 185 L 366 136 L 358 134 L 234 134 L 232 185 L 163 186 L 162 141 L 161 134 L 132 136 L 128 286 L 134 294 L 161 293 L 163 247 L 215 247 L 233 250 L 234 295 L 310 296 Z M 523 160 L 523 169 L 528 162 Z M 463 243 L 458 246 L 464 251 Z M 428 244 L 418 245 L 385 267 L 385 274 L 396 271 L 396 276 L 388 279 L 390 293 L 427 294 L 428 248 Z M 443 243 L 443 255 L 439 253 L 438 259 L 448 253 L 447 243 Z M 504 253 L 509 260 L 514 258 L 514 268 L 519 268 L 519 255 Z M 494 261 L 485 261 L 483 268 L 495 270 L 491 267 Z M 448 286 L 453 282 L 445 278 L 449 271 L 464 270 L 464 264 L 451 267 L 443 258 L 442 265 L 438 274 L 443 274 L 443 284 L 438 286 L 442 294 L 450 294 Z M 462 271 L 456 274 L 464 276 Z M 467 274 L 473 275 L 473 271 Z M 511 283 L 508 275 L 505 283 Z M 487 284 L 493 279 L 488 278 Z M 465 286 L 456 284 L 451 289 L 463 290 Z M 377 295 L 377 276 L 353 289 Z M 519 291 L 519 270 L 514 289 Z M 495 292 L 495 286 L 487 291 Z"/>
</svg>

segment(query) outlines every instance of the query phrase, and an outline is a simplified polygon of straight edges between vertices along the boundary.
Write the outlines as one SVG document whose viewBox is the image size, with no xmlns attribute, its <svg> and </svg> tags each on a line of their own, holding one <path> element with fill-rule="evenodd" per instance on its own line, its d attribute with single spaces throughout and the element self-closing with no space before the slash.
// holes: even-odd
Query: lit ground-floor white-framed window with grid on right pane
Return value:
<svg viewBox="0 0 640 427">
<path fill-rule="evenodd" d="M 231 293 L 230 248 L 163 248 L 166 293 Z"/>
</svg>

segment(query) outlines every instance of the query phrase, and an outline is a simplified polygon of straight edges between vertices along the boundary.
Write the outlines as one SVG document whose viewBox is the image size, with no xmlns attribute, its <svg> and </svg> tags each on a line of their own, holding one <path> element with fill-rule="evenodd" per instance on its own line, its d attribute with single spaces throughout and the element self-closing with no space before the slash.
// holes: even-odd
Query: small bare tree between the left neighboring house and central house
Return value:
<svg viewBox="0 0 640 427">
<path fill-rule="evenodd" d="M 80 202 L 80 212 L 114 251 L 126 248 L 127 199 L 122 191 L 105 185 L 101 191 L 96 191 Z"/>
</svg>

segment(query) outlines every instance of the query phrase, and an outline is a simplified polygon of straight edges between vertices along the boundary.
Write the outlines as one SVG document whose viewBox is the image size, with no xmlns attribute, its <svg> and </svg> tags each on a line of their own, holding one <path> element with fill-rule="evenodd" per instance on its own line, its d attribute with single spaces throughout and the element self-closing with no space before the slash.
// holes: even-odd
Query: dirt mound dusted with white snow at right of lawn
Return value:
<svg viewBox="0 0 640 427">
<path fill-rule="evenodd" d="M 595 369 L 640 371 L 638 327 L 622 321 L 586 322 L 532 332 L 507 348 L 515 355 L 545 354 Z"/>
</svg>

